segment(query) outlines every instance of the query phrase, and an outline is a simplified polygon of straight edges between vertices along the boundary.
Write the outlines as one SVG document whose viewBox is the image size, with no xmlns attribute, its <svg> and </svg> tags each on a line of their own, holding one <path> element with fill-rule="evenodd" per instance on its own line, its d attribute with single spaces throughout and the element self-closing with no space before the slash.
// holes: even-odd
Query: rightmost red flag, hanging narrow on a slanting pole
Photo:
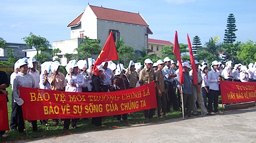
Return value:
<svg viewBox="0 0 256 143">
<path fill-rule="evenodd" d="M 196 63 L 195 63 L 195 59 L 193 56 L 193 51 L 192 51 L 192 47 L 191 47 L 191 42 L 189 40 L 189 36 L 187 34 L 187 39 L 188 39 L 188 49 L 189 49 L 189 55 L 190 55 L 190 63 L 191 63 L 191 67 L 192 67 L 192 71 L 193 71 L 193 84 L 197 85 L 197 69 L 196 69 Z"/>
</svg>

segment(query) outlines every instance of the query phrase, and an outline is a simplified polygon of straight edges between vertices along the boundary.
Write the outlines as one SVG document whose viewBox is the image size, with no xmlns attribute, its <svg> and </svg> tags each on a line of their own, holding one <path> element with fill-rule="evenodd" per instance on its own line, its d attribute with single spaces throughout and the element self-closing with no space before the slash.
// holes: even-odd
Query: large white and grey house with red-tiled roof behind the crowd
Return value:
<svg viewBox="0 0 256 143">
<path fill-rule="evenodd" d="M 69 45 L 71 41 L 79 41 L 74 39 L 87 36 L 100 39 L 103 47 L 112 31 L 115 41 L 122 38 L 125 45 L 133 47 L 134 50 L 142 50 L 142 47 L 148 45 L 148 34 L 152 34 L 147 21 L 139 13 L 92 5 L 88 5 L 67 27 L 71 29 Z M 73 53 L 76 47 L 66 49 L 64 43 L 65 41 L 53 42 L 53 49 L 59 48 L 61 55 Z"/>
</svg>

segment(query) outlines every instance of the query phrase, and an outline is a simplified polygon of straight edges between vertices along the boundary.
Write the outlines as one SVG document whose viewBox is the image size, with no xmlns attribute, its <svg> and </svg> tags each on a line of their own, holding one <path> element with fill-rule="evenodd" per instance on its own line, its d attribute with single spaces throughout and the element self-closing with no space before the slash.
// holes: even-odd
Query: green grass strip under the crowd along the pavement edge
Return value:
<svg viewBox="0 0 256 143">
<path fill-rule="evenodd" d="M 9 124 L 10 124 L 10 117 L 11 117 L 11 86 L 7 88 L 9 92 L 9 102 L 8 105 L 8 114 L 9 114 Z M 222 109 L 219 109 L 222 111 Z M 200 109 L 199 109 L 200 114 Z M 104 119 L 102 119 L 102 123 L 106 125 L 106 127 L 95 127 L 91 124 L 91 119 L 80 119 L 79 123 L 77 123 L 78 129 L 69 129 L 68 131 L 61 131 L 63 129 L 63 123 L 60 122 L 59 125 L 40 125 L 40 121 L 38 120 L 38 129 L 42 131 L 42 133 L 34 133 L 32 132 L 32 128 L 29 127 L 28 122 L 26 122 L 27 127 L 27 133 L 28 137 L 26 136 L 26 132 L 19 133 L 14 131 L 9 131 L 6 138 L 0 138 L 0 142 L 15 142 L 19 140 L 26 140 L 30 139 L 33 140 L 34 138 L 45 138 L 45 137 L 60 137 L 65 135 L 71 135 L 73 133 L 80 133 L 80 132 L 89 132 L 89 131 L 102 131 L 107 129 L 114 129 L 119 127 L 129 127 L 133 124 L 143 124 L 143 123 L 157 123 L 162 122 L 164 120 L 172 119 L 172 118 L 180 118 L 182 116 L 181 111 L 173 111 L 171 113 L 168 113 L 167 116 L 164 116 L 164 118 L 157 119 L 156 116 L 150 120 L 145 120 L 143 116 L 143 111 L 134 112 L 134 116 L 128 115 L 128 120 L 130 120 L 130 123 L 127 123 L 123 120 L 121 120 L 121 124 L 117 123 L 117 118 L 114 116 L 107 116 Z M 49 124 L 52 124 L 52 120 L 48 120 Z"/>
</svg>

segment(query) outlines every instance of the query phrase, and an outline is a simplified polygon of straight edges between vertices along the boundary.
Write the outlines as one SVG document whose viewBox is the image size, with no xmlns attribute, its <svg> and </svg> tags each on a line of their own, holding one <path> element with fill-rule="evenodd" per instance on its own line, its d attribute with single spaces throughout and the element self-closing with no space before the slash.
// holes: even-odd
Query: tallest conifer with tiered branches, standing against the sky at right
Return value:
<svg viewBox="0 0 256 143">
<path fill-rule="evenodd" d="M 228 20 L 227 20 L 225 29 L 225 37 L 224 37 L 224 43 L 225 44 L 233 44 L 234 41 L 236 41 L 236 34 L 234 32 L 237 31 L 236 29 L 236 18 L 234 18 L 233 14 L 229 14 Z"/>
</svg>

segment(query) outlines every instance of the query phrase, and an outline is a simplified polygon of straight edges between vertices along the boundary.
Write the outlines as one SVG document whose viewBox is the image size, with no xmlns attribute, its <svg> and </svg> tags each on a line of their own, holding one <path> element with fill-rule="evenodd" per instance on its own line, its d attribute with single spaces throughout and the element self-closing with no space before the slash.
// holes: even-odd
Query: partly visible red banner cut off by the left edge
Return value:
<svg viewBox="0 0 256 143">
<path fill-rule="evenodd" d="M 0 131 L 9 131 L 6 95 L 0 94 Z"/>
</svg>

